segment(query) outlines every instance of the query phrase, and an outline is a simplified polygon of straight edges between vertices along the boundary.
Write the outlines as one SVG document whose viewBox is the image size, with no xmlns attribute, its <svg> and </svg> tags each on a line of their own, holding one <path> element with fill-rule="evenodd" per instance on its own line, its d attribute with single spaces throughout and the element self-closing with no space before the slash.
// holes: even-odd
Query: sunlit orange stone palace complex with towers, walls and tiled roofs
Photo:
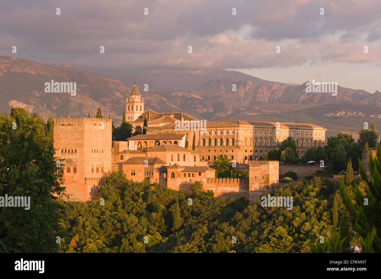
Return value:
<svg viewBox="0 0 381 279">
<path fill-rule="evenodd" d="M 289 136 L 296 142 L 299 158 L 307 148 L 325 145 L 327 129 L 313 124 L 205 121 L 181 112 L 144 111 L 136 84 L 125 104 L 126 122 L 135 128 L 143 127 L 146 120 L 146 134 L 112 142 L 110 119 L 54 120 L 54 148 L 70 199 L 91 201 L 106 174 L 122 169 L 134 181 L 148 179 L 187 191 L 192 182 L 201 180 L 204 189 L 215 196 L 254 202 L 259 193 L 279 182 L 279 162 L 261 161 L 263 153 L 277 148 Z M 216 179 L 210 163 L 218 155 L 227 155 L 249 169 L 249 179 Z"/>
</svg>

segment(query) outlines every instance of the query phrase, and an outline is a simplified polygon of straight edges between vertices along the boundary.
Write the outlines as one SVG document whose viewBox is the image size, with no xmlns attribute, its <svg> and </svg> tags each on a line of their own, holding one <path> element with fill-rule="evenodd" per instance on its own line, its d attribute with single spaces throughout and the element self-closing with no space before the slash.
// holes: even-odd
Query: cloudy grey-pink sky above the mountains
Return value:
<svg viewBox="0 0 381 279">
<path fill-rule="evenodd" d="M 380 11 L 380 0 L 1 0 L 0 55 L 77 69 L 237 70 L 373 93 Z"/>
</svg>

